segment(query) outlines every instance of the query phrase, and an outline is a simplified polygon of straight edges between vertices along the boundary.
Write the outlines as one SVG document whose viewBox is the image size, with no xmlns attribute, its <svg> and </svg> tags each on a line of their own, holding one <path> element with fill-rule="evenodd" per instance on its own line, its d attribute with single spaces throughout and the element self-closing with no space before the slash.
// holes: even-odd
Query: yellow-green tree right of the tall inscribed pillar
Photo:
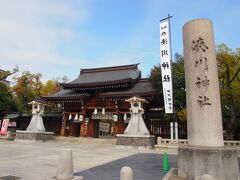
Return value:
<svg viewBox="0 0 240 180">
<path fill-rule="evenodd" d="M 223 116 L 227 122 L 229 138 L 233 138 L 236 117 L 240 115 L 240 49 L 232 51 L 226 44 L 217 46 L 218 74 Z"/>
</svg>

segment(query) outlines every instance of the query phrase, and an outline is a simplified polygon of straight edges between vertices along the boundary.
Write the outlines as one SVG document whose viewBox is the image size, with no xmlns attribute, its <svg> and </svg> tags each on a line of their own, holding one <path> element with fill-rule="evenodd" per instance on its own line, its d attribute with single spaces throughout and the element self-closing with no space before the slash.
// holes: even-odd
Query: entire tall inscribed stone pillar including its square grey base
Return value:
<svg viewBox="0 0 240 180">
<path fill-rule="evenodd" d="M 216 52 L 211 21 L 196 19 L 183 26 L 188 146 L 178 148 L 178 174 L 238 179 L 237 150 L 225 148 Z"/>
</svg>

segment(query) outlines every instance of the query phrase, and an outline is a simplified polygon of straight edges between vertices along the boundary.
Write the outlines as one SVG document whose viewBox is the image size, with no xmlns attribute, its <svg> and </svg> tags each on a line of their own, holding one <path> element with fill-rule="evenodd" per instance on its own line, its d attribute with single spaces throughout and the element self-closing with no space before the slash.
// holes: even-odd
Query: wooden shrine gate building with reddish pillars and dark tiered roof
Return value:
<svg viewBox="0 0 240 180">
<path fill-rule="evenodd" d="M 144 120 L 154 134 L 148 110 L 159 103 L 157 91 L 149 79 L 141 78 L 138 64 L 82 69 L 75 80 L 60 86 L 58 93 L 42 98 L 62 104 L 61 135 L 101 137 L 124 133 L 130 117 L 130 105 L 125 100 L 133 96 L 148 101 L 144 104 Z"/>
</svg>

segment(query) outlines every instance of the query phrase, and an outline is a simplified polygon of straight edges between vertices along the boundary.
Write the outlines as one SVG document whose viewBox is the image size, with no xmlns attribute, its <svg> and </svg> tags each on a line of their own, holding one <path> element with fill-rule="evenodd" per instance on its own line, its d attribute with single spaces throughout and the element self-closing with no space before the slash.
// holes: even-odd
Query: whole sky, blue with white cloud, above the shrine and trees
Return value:
<svg viewBox="0 0 240 180">
<path fill-rule="evenodd" d="M 140 63 L 148 77 L 160 62 L 159 20 L 168 13 L 173 54 L 182 54 L 182 26 L 195 18 L 213 22 L 216 44 L 240 47 L 238 0 L 1 0 L 0 68 L 18 65 L 46 81 Z"/>
</svg>

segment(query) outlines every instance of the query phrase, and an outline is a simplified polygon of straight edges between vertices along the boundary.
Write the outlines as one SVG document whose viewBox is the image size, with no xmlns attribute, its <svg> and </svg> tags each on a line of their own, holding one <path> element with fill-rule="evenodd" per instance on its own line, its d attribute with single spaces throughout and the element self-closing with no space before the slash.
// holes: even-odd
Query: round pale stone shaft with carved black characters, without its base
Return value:
<svg viewBox="0 0 240 180">
<path fill-rule="evenodd" d="M 183 27 L 188 143 L 222 147 L 223 129 L 212 23 L 197 19 Z"/>
</svg>

